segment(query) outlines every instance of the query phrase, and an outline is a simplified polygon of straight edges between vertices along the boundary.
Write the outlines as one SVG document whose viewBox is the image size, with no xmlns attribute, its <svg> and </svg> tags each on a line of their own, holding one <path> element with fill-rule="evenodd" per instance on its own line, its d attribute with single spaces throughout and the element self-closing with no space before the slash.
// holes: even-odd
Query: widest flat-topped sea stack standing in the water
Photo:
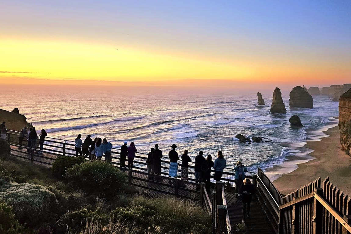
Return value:
<svg viewBox="0 0 351 234">
<path fill-rule="evenodd" d="M 291 107 L 313 108 L 313 98 L 301 86 L 296 86 L 290 92 L 289 105 Z"/>
</svg>

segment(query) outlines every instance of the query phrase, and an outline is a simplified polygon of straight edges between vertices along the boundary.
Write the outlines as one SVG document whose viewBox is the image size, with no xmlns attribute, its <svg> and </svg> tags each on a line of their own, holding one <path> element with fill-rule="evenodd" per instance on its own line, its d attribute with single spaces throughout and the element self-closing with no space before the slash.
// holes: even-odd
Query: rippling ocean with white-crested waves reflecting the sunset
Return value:
<svg viewBox="0 0 351 234">
<path fill-rule="evenodd" d="M 78 134 L 106 138 L 113 148 L 134 142 L 138 152 L 147 153 L 158 143 L 168 156 L 175 143 L 178 154 L 185 149 L 194 159 L 200 150 L 217 156 L 223 151 L 227 167 L 238 160 L 257 171 L 286 160 L 309 160 L 306 141 L 326 136 L 322 131 L 336 126 L 338 102 L 313 96 L 314 108 L 290 108 L 289 92 L 282 90 L 286 114 L 270 113 L 271 91 L 210 90 L 170 87 L 104 86 L 13 86 L 2 85 L 0 108 L 17 107 L 27 121 L 48 136 L 72 140 Z M 257 92 L 265 106 L 258 106 Z M 298 115 L 305 127 L 290 126 Z M 1 120 L 2 121 L 2 120 Z M 270 142 L 241 143 L 235 136 L 260 136 Z M 230 171 L 230 169 L 228 169 Z M 286 172 L 290 172 L 287 169 Z M 274 179 L 274 178 L 273 178 Z"/>
</svg>

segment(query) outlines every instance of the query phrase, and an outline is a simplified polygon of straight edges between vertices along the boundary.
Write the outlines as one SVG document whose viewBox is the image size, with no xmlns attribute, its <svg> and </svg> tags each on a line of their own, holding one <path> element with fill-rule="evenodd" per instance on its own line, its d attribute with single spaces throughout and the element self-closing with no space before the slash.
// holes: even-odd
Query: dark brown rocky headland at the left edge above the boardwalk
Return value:
<svg viewBox="0 0 351 234">
<path fill-rule="evenodd" d="M 5 111 L 0 109 L 0 122 L 6 122 L 6 128 L 14 131 L 21 131 L 24 126 L 28 128 L 33 127 L 31 123 L 27 122 L 27 118 L 24 115 L 16 113 L 17 108 L 15 108 L 12 112 Z"/>
</svg>

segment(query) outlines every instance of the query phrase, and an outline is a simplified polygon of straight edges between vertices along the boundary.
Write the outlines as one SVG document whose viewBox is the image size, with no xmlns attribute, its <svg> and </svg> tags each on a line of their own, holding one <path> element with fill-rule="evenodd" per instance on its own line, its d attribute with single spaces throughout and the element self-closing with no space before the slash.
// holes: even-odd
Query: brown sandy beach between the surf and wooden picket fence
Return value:
<svg viewBox="0 0 351 234">
<path fill-rule="evenodd" d="M 304 146 L 313 150 L 309 155 L 315 159 L 298 164 L 298 169 L 274 181 L 280 192 L 286 194 L 318 177 L 323 180 L 329 176 L 333 185 L 351 195 L 351 156 L 340 149 L 339 127 L 329 128 L 324 133 L 329 136 L 309 141 Z"/>
</svg>

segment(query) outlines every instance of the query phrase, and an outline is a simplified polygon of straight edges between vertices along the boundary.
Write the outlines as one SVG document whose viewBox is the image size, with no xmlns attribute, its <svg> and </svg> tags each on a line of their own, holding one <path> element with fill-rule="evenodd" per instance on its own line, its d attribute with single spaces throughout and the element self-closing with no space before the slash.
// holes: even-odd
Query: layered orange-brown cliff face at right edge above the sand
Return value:
<svg viewBox="0 0 351 234">
<path fill-rule="evenodd" d="M 339 99 L 339 130 L 341 148 L 351 152 L 351 88 Z"/>
</svg>

